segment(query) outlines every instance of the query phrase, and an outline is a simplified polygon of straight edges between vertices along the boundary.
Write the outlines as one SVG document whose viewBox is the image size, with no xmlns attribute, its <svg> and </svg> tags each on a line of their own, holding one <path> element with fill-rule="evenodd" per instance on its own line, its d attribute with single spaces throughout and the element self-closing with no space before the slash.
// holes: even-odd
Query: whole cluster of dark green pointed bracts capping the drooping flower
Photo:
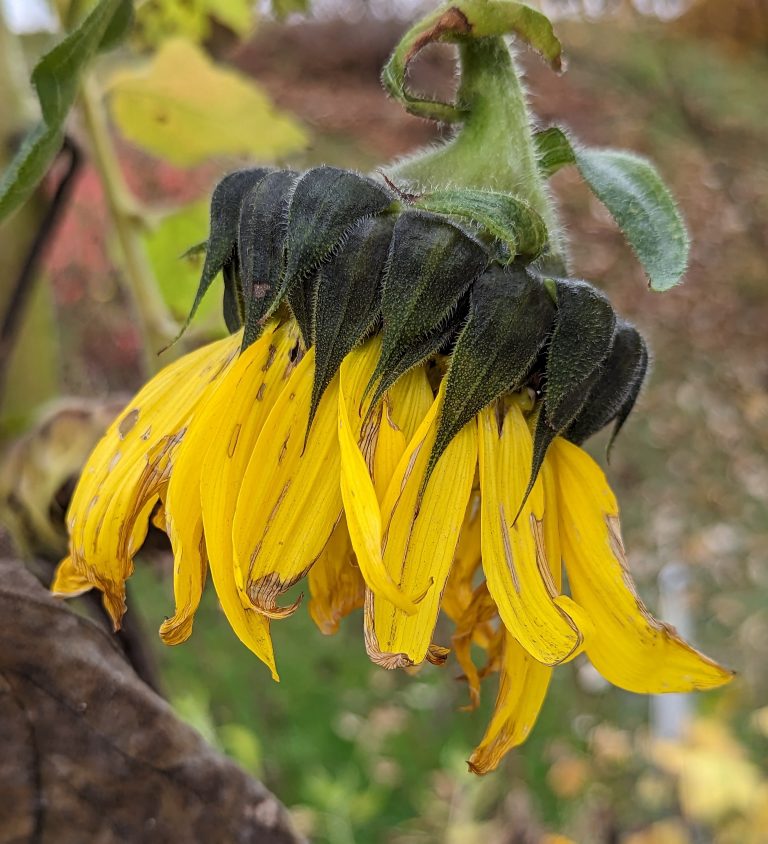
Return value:
<svg viewBox="0 0 768 844">
<path fill-rule="evenodd" d="M 409 369 L 444 359 L 424 483 L 477 413 L 529 388 L 532 485 L 556 436 L 581 443 L 615 423 L 613 441 L 648 365 L 642 337 L 606 296 L 544 274 L 547 256 L 541 218 L 504 194 L 414 196 L 328 166 L 244 170 L 213 193 L 191 315 L 219 272 L 227 327 L 244 328 L 243 348 L 290 310 L 305 346 L 315 346 L 308 428 L 342 360 L 372 334 L 381 332 L 382 347 L 370 407 Z"/>
</svg>

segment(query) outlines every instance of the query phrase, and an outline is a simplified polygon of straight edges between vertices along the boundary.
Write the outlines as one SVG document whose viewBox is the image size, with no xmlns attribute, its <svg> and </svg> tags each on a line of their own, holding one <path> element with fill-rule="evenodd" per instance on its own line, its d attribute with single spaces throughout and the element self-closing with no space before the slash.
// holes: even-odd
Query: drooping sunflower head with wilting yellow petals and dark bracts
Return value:
<svg viewBox="0 0 768 844">
<path fill-rule="evenodd" d="M 470 705 L 499 673 L 470 759 L 484 773 L 529 734 L 552 668 L 582 652 L 638 693 L 731 675 L 639 599 L 616 500 L 579 445 L 632 409 L 642 338 L 590 285 L 537 270 L 539 239 L 526 254 L 441 201 L 330 167 L 219 185 L 200 295 L 222 271 L 233 333 L 166 367 L 113 423 L 53 590 L 101 590 L 119 627 L 151 520 L 174 555 L 162 639 L 190 636 L 210 570 L 277 680 L 270 625 L 307 578 L 319 629 L 362 607 L 383 668 L 442 664 L 450 644 Z M 450 643 L 435 641 L 441 609 Z"/>
</svg>

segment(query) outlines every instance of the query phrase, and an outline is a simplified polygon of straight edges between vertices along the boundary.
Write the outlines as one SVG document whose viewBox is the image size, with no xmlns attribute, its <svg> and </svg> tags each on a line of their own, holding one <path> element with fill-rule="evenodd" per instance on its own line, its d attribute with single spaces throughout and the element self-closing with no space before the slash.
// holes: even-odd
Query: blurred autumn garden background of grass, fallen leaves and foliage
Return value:
<svg viewBox="0 0 768 844">
<path fill-rule="evenodd" d="M 89 5 L 5 0 L 0 163 L 34 116 L 29 68 Z M 223 332 L 211 296 L 183 341 L 156 355 L 191 301 L 199 257 L 180 256 L 205 239 L 206 199 L 223 173 L 254 159 L 368 170 L 434 139 L 438 130 L 378 85 L 406 21 L 431 5 L 139 0 L 128 41 L 88 71 L 68 124 L 84 163 L 3 360 L 6 439 L 46 399 L 133 390 L 148 370 Z M 556 177 L 575 267 L 654 350 L 609 468 L 633 571 L 650 604 L 736 669 L 736 682 L 649 701 L 577 660 L 555 673 L 526 745 L 476 779 L 464 760 L 493 691 L 461 713 L 454 662 L 412 676 L 371 666 L 357 615 L 328 638 L 305 610 L 275 624 L 275 685 L 210 591 L 191 640 L 160 646 L 154 630 L 172 606 L 162 551 L 137 566 L 129 612 L 178 712 L 262 777 L 314 841 L 765 844 L 768 3 L 542 6 L 558 20 L 569 65 L 558 77 L 522 56 L 541 123 L 654 159 L 694 238 L 687 283 L 651 294 L 604 209 L 574 173 Z M 414 84 L 445 92 L 451 61 L 449 49 L 425 51 Z M 3 314 L 60 169 L 0 228 Z M 152 325 L 142 284 L 162 311 Z M 601 438 L 593 446 L 602 454 Z M 0 485 L 21 474 L 6 472 Z M 449 639 L 438 631 L 437 641 Z"/>
</svg>

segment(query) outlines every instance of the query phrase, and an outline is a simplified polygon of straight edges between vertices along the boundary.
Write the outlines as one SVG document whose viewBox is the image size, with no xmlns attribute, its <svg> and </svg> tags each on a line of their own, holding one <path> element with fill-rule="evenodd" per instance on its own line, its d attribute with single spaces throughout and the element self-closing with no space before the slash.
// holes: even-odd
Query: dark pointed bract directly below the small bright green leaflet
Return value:
<svg viewBox="0 0 768 844">
<path fill-rule="evenodd" d="M 480 243 L 436 214 L 404 211 L 398 217 L 384 277 L 376 376 L 391 367 L 401 349 L 444 324 L 488 261 Z"/>
</svg>

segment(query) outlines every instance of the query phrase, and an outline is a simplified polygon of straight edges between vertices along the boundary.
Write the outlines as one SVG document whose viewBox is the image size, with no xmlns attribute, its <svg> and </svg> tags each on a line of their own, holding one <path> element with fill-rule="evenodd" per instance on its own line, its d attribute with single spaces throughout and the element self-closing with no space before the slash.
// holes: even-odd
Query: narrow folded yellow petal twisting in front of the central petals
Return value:
<svg viewBox="0 0 768 844">
<path fill-rule="evenodd" d="M 384 565 L 381 549 L 381 511 L 376 489 L 350 423 L 350 410 L 352 418 L 355 418 L 354 408 L 357 405 L 354 403 L 354 398 L 347 396 L 347 384 L 355 377 L 356 368 L 359 368 L 357 358 L 366 354 L 370 352 L 365 347 L 355 350 L 341 365 L 338 410 L 341 497 L 344 502 L 352 547 L 355 549 L 360 572 L 368 588 L 388 598 L 403 611 L 414 613 L 416 607 L 413 601 L 398 588 Z M 370 359 L 375 365 L 372 354 Z M 372 367 L 371 371 L 373 371 Z M 351 396 L 352 389 L 349 392 Z"/>
</svg>

